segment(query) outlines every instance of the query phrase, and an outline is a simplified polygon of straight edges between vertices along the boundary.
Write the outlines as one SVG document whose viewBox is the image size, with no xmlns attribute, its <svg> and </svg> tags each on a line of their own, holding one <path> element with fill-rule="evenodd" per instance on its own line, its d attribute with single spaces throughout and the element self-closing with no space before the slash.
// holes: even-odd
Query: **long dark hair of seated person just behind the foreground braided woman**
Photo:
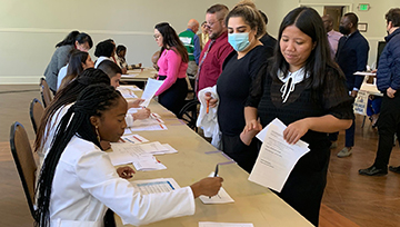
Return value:
<svg viewBox="0 0 400 227">
<path fill-rule="evenodd" d="M 34 140 L 34 150 L 39 150 L 46 144 L 46 139 L 48 135 L 44 135 L 46 131 L 50 131 L 51 119 L 56 111 L 61 107 L 72 103 L 77 100 L 78 95 L 88 86 L 104 83 L 110 85 L 110 78 L 100 69 L 89 68 L 86 69 L 81 75 L 78 75 L 78 78 L 70 83 L 68 83 L 64 88 L 59 90 L 54 99 L 51 101 L 50 106 L 46 108 L 42 119 L 40 120 L 40 126 L 37 132 L 37 137 Z"/>
</svg>

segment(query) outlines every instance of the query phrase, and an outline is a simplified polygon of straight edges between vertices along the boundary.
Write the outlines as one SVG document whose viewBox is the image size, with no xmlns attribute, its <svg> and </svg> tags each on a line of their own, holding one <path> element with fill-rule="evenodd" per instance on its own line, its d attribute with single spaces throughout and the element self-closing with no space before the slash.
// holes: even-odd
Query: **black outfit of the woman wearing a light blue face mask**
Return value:
<svg viewBox="0 0 400 227">
<path fill-rule="evenodd" d="M 257 46 L 238 59 L 237 51 L 232 51 L 224 60 L 222 73 L 217 81 L 218 125 L 222 132 L 222 150 L 248 172 L 254 166 L 259 146 L 257 139 L 253 139 L 250 146 L 240 139 L 246 126 L 244 103 L 252 80 L 271 53 L 267 52 L 263 46 Z"/>
</svg>

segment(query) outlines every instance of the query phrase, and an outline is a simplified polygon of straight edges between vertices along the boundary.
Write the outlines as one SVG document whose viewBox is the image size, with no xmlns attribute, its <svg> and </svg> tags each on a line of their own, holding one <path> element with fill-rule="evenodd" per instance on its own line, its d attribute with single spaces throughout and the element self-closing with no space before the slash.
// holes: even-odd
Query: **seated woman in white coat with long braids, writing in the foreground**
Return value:
<svg viewBox="0 0 400 227">
<path fill-rule="evenodd" d="M 190 187 L 141 195 L 118 177 L 100 140 L 118 141 L 127 124 L 127 101 L 113 87 L 86 88 L 62 118 L 37 187 L 39 226 L 102 226 L 107 207 L 124 224 L 144 225 L 192 215 L 194 198 L 217 195 L 222 178 Z M 133 170 L 126 169 L 127 175 Z"/>
</svg>

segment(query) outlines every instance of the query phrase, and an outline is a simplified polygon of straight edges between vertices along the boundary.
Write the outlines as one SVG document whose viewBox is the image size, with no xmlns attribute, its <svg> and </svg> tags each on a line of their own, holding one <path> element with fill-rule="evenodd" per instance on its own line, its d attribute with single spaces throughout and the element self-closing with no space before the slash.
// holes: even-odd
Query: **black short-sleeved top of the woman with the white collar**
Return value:
<svg viewBox="0 0 400 227">
<path fill-rule="evenodd" d="M 346 88 L 344 78 L 337 70 L 327 69 L 326 82 L 317 91 L 308 86 L 309 80 L 310 78 L 297 83 L 294 91 L 282 103 L 280 89 L 283 82 L 271 77 L 263 67 L 252 85 L 247 106 L 258 108 L 262 127 L 274 118 L 287 126 L 303 118 L 324 115 L 333 115 L 339 119 L 354 118 L 351 106 L 353 99 Z M 301 140 L 310 145 L 311 152 L 317 147 L 329 147 L 326 132 L 309 130 Z"/>
</svg>

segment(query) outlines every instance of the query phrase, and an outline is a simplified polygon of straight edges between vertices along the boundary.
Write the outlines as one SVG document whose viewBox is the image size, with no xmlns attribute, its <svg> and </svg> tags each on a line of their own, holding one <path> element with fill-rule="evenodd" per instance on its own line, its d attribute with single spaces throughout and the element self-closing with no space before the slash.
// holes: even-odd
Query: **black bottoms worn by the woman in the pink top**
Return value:
<svg viewBox="0 0 400 227">
<path fill-rule="evenodd" d="M 164 80 L 166 76 L 159 76 L 159 79 Z M 179 78 L 169 89 L 159 95 L 159 102 L 179 117 L 179 111 L 184 106 L 187 95 L 188 82 L 184 78 Z"/>
</svg>

